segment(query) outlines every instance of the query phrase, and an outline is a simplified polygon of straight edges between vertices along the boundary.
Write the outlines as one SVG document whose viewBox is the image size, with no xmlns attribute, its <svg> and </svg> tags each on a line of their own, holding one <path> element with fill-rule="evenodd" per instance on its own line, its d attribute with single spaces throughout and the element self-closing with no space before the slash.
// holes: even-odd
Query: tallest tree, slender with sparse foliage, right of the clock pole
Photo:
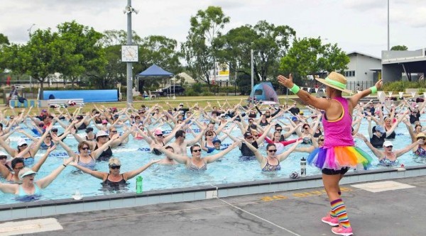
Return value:
<svg viewBox="0 0 426 236">
<path fill-rule="evenodd" d="M 182 54 L 185 55 L 187 69 L 192 77 L 210 85 L 210 70 L 214 67 L 218 45 L 216 38 L 222 35 L 221 30 L 229 17 L 225 16 L 219 6 L 209 6 L 205 11 L 198 11 L 190 19 L 191 27 L 187 41 L 182 44 Z"/>
</svg>

